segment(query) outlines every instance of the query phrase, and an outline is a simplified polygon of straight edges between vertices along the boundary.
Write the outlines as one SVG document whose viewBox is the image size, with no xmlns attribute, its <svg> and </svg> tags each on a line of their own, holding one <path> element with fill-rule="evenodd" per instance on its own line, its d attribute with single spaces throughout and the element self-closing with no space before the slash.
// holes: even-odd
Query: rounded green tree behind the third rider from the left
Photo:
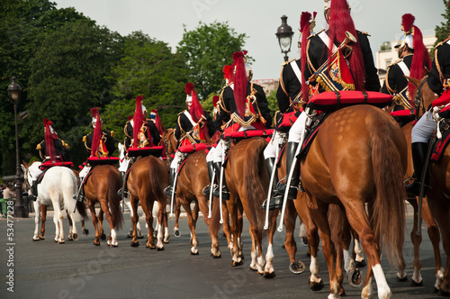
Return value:
<svg viewBox="0 0 450 299">
<path fill-rule="evenodd" d="M 104 120 L 123 140 L 123 126 L 133 115 L 135 98 L 144 96 L 148 113 L 157 109 L 163 125 L 175 126 L 177 113 L 185 109 L 186 70 L 183 57 L 172 53 L 166 42 L 156 41 L 142 32 L 124 38 L 124 56 L 112 69 L 115 100 L 108 104 Z"/>
</svg>

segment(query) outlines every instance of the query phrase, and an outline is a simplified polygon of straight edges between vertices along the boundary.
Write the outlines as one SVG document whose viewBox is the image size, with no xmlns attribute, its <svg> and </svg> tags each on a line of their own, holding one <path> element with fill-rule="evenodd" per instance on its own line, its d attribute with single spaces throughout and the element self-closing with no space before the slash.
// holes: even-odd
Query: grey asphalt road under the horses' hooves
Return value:
<svg viewBox="0 0 450 299">
<path fill-rule="evenodd" d="M 409 236 L 411 215 L 409 213 L 409 231 L 404 247 L 409 281 L 397 282 L 397 270 L 386 260 L 383 261 L 384 273 L 393 298 L 438 298 L 433 294 L 434 256 L 425 224 L 420 248 L 424 286 L 410 286 L 413 261 Z M 164 251 L 146 249 L 143 240 L 139 240 L 138 248 L 131 248 L 130 239 L 126 237 L 130 213 L 126 212 L 124 219 L 125 229 L 118 232 L 118 248 L 108 247 L 105 241 L 99 247 L 93 246 L 94 229 L 90 220 L 86 222 L 90 234 L 80 235 L 79 240 L 67 241 L 66 244 L 53 242 L 55 228 L 52 217 L 47 220 L 46 240 L 39 242 L 31 241 L 34 218 L 14 220 L 13 242 L 7 240 L 7 222 L 0 220 L 0 272 L 3 277 L 0 298 L 326 298 L 329 294 L 329 276 L 322 252 L 319 262 L 325 287 L 320 292 L 312 292 L 308 286 L 306 248 L 299 242 L 296 256 L 306 264 L 306 271 L 293 275 L 288 269 L 287 253 L 282 248 L 284 232 L 275 234 L 276 277 L 266 279 L 249 271 L 251 241 L 247 220 L 243 239 L 244 265 L 231 267 L 224 239 L 220 239 L 222 258 L 210 257 L 211 239 L 202 218 L 197 223 L 198 256 L 190 255 L 190 235 L 185 217 L 180 221 L 181 237 L 171 235 Z M 140 218 L 140 223 L 144 225 L 143 218 Z M 174 219 L 169 219 L 171 233 L 174 223 Z M 77 228 L 81 231 L 79 223 Z M 109 233 L 109 229 L 106 231 Z M 14 245 L 8 245 L 10 243 Z M 441 256 L 445 262 L 442 246 Z M 12 270 L 14 278 L 10 274 Z M 11 290 L 11 284 L 8 285 L 11 281 L 14 282 L 14 293 L 8 291 L 8 288 Z M 347 283 L 345 288 L 348 297 L 360 298 L 359 289 Z M 374 292 L 376 296 L 375 284 Z"/>
</svg>

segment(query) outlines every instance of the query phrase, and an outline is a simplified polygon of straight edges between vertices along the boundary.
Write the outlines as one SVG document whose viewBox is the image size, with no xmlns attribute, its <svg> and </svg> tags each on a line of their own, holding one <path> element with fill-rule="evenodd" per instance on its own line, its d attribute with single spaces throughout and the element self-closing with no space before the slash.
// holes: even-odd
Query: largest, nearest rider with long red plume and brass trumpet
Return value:
<svg viewBox="0 0 450 299">
<path fill-rule="evenodd" d="M 347 84 L 341 82 L 341 90 L 369 90 L 379 91 L 380 81 L 377 75 L 377 69 L 374 66 L 374 56 L 370 48 L 369 40 L 367 39 L 368 33 L 359 32 L 355 29 L 355 24 L 350 15 L 350 6 L 347 4 L 347 0 L 325 0 L 325 19 L 329 23 L 328 30 L 322 30 L 316 34 L 311 35 L 307 42 L 302 43 L 302 48 L 306 47 L 302 52 L 305 53 L 305 59 L 307 66 L 302 69 L 304 77 L 308 82 L 302 82 L 302 89 L 307 88 L 307 85 L 315 86 L 315 90 L 323 92 L 327 90 L 327 86 L 320 82 L 317 78 L 317 74 L 314 74 L 321 66 L 327 66 L 327 75 L 335 72 L 343 71 L 340 65 L 338 68 L 334 68 L 329 63 L 329 58 L 332 57 L 332 53 L 335 52 L 335 47 L 341 45 L 347 37 L 347 32 L 356 37 L 356 42 L 351 42 L 347 47 L 343 47 L 343 55 L 347 58 L 347 65 L 351 77 L 353 77 L 354 83 Z M 303 58 L 302 58 L 303 59 Z M 303 94 L 303 101 L 308 103 L 309 94 Z M 297 147 L 302 140 L 302 135 L 305 131 L 305 122 L 307 121 L 308 114 L 302 112 L 294 122 L 293 127 L 289 131 L 289 139 L 286 146 L 286 173 L 289 174 L 293 167 L 293 160 L 297 152 Z M 288 188 L 288 198 L 295 199 L 297 197 L 297 189 L 300 184 L 300 169 L 299 163 L 296 163 L 293 168 L 293 177 Z M 280 184 L 279 190 L 283 190 L 284 186 Z"/>
</svg>

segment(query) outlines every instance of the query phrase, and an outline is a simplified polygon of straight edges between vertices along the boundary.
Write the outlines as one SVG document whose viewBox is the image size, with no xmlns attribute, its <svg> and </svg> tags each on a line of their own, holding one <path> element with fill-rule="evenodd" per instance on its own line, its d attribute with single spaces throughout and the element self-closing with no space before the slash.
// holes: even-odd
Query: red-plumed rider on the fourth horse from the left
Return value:
<svg viewBox="0 0 450 299">
<path fill-rule="evenodd" d="M 180 140 L 180 146 L 196 143 L 205 143 L 214 134 L 214 123 L 208 111 L 203 111 L 193 83 L 188 82 L 184 86 L 186 92 L 186 110 L 178 113 L 178 121 L 175 128 L 175 139 Z M 170 164 L 169 186 L 164 189 L 167 196 L 175 193 L 174 183 L 178 165 L 184 159 L 184 153 L 176 150 L 175 158 Z"/>
</svg>

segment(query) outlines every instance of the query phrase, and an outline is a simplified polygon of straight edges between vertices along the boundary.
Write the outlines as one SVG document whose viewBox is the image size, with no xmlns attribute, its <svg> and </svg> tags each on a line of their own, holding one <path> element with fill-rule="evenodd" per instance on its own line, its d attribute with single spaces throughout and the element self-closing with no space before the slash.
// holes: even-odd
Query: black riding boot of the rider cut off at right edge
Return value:
<svg viewBox="0 0 450 299">
<path fill-rule="evenodd" d="M 420 182 L 423 176 L 423 168 L 425 165 L 425 159 L 427 159 L 428 143 L 414 142 L 411 143 L 412 164 L 414 166 L 414 181 L 405 186 L 406 192 L 411 195 L 419 196 Z M 428 177 L 425 180 L 425 192 L 427 194 Z"/>
</svg>

